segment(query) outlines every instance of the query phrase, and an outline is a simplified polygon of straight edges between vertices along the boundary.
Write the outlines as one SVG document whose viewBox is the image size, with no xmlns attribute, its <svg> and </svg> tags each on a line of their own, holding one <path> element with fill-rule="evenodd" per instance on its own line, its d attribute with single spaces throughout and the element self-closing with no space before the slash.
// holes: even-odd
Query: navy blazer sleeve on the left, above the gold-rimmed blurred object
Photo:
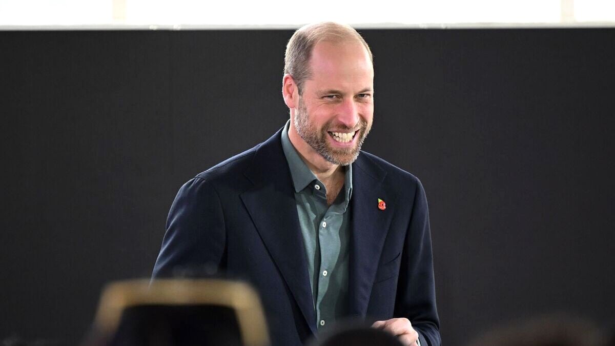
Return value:
<svg viewBox="0 0 615 346">
<path fill-rule="evenodd" d="M 223 266 L 226 230 L 220 196 L 200 177 L 177 193 L 152 279 L 182 273 L 212 273 Z"/>
</svg>

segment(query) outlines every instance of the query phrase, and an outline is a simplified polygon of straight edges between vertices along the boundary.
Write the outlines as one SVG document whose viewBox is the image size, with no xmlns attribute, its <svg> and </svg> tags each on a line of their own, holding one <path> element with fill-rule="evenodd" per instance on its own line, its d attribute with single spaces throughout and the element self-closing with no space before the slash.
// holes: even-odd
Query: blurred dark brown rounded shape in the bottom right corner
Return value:
<svg viewBox="0 0 615 346">
<path fill-rule="evenodd" d="M 493 329 L 469 346 L 600 346 L 591 321 L 566 314 L 544 315 Z"/>
</svg>

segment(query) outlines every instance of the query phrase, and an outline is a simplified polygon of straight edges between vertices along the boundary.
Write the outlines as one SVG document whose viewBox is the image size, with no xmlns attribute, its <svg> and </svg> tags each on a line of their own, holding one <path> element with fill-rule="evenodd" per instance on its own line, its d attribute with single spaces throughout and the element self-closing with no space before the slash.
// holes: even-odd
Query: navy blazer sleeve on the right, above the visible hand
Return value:
<svg viewBox="0 0 615 346">
<path fill-rule="evenodd" d="M 425 190 L 418 180 L 411 213 L 402 252 L 394 315 L 410 320 L 419 334 L 421 346 L 440 346 L 429 211 Z"/>
</svg>

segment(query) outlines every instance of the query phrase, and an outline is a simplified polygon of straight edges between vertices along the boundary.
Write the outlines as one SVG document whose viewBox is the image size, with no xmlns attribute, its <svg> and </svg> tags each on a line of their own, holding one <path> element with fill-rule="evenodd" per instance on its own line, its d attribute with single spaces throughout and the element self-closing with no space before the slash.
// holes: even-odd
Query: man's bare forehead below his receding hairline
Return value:
<svg viewBox="0 0 615 346">
<path fill-rule="evenodd" d="M 374 69 L 370 56 L 359 41 L 318 42 L 312 50 L 310 70 L 309 80 L 313 84 L 334 84 L 327 87 L 353 89 L 373 86 Z"/>
</svg>

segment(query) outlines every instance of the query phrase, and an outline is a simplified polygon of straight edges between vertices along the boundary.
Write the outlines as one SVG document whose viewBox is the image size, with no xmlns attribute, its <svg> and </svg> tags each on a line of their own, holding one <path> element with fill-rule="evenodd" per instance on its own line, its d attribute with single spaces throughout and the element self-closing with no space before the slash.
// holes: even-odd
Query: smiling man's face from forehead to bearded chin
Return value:
<svg viewBox="0 0 615 346">
<path fill-rule="evenodd" d="M 293 123 L 314 151 L 333 164 L 359 156 L 373 121 L 374 71 L 360 42 L 319 42 L 310 60 Z"/>
</svg>

